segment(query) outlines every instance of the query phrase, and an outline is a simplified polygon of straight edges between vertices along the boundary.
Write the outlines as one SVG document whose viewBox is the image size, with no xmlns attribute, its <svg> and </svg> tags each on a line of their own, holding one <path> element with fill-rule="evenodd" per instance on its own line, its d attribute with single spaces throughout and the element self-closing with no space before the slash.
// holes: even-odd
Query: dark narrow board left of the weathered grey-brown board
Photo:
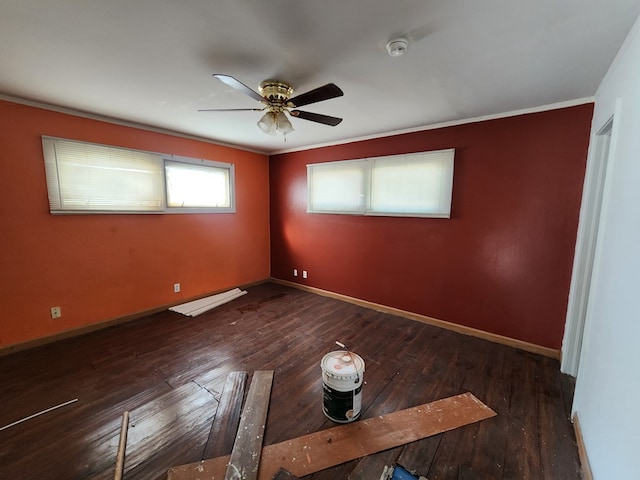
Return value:
<svg viewBox="0 0 640 480">
<path fill-rule="evenodd" d="M 209 438 L 202 453 L 203 460 L 231 453 L 240 422 L 246 383 L 247 372 L 231 372 L 227 375 L 216 417 L 211 424 Z"/>
</svg>

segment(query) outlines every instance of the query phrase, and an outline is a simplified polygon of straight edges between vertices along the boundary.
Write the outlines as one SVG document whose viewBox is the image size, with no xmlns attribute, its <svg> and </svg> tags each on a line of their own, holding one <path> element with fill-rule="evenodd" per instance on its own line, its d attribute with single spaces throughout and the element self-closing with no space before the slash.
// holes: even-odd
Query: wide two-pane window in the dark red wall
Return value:
<svg viewBox="0 0 640 480">
<path fill-rule="evenodd" d="M 307 165 L 307 211 L 449 218 L 454 152 Z"/>
</svg>

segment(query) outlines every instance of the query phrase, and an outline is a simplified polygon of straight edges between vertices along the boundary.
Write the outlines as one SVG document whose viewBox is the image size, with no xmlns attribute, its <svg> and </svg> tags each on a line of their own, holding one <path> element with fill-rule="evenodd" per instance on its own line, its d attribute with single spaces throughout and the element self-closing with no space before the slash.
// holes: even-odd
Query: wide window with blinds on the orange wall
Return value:
<svg viewBox="0 0 640 480">
<path fill-rule="evenodd" d="M 228 163 L 42 138 L 51 213 L 234 212 Z"/>
</svg>

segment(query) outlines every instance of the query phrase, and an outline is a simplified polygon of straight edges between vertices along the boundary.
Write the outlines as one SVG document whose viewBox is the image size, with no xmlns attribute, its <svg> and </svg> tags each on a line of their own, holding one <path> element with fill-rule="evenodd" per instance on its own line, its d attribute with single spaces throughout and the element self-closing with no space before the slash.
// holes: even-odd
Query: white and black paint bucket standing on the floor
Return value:
<svg viewBox="0 0 640 480">
<path fill-rule="evenodd" d="M 364 360 L 347 350 L 327 353 L 322 367 L 322 411 L 336 423 L 357 420 L 362 408 Z"/>
</svg>

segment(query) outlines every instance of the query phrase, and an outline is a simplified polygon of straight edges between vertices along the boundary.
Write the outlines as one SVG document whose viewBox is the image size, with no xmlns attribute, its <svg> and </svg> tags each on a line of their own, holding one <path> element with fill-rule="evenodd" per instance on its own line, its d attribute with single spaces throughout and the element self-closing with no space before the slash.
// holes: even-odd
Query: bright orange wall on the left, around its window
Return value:
<svg viewBox="0 0 640 480">
<path fill-rule="evenodd" d="M 41 135 L 233 163 L 237 213 L 53 216 Z M 2 101 L 0 145 L 0 347 L 269 277 L 264 155 Z"/>
</svg>

